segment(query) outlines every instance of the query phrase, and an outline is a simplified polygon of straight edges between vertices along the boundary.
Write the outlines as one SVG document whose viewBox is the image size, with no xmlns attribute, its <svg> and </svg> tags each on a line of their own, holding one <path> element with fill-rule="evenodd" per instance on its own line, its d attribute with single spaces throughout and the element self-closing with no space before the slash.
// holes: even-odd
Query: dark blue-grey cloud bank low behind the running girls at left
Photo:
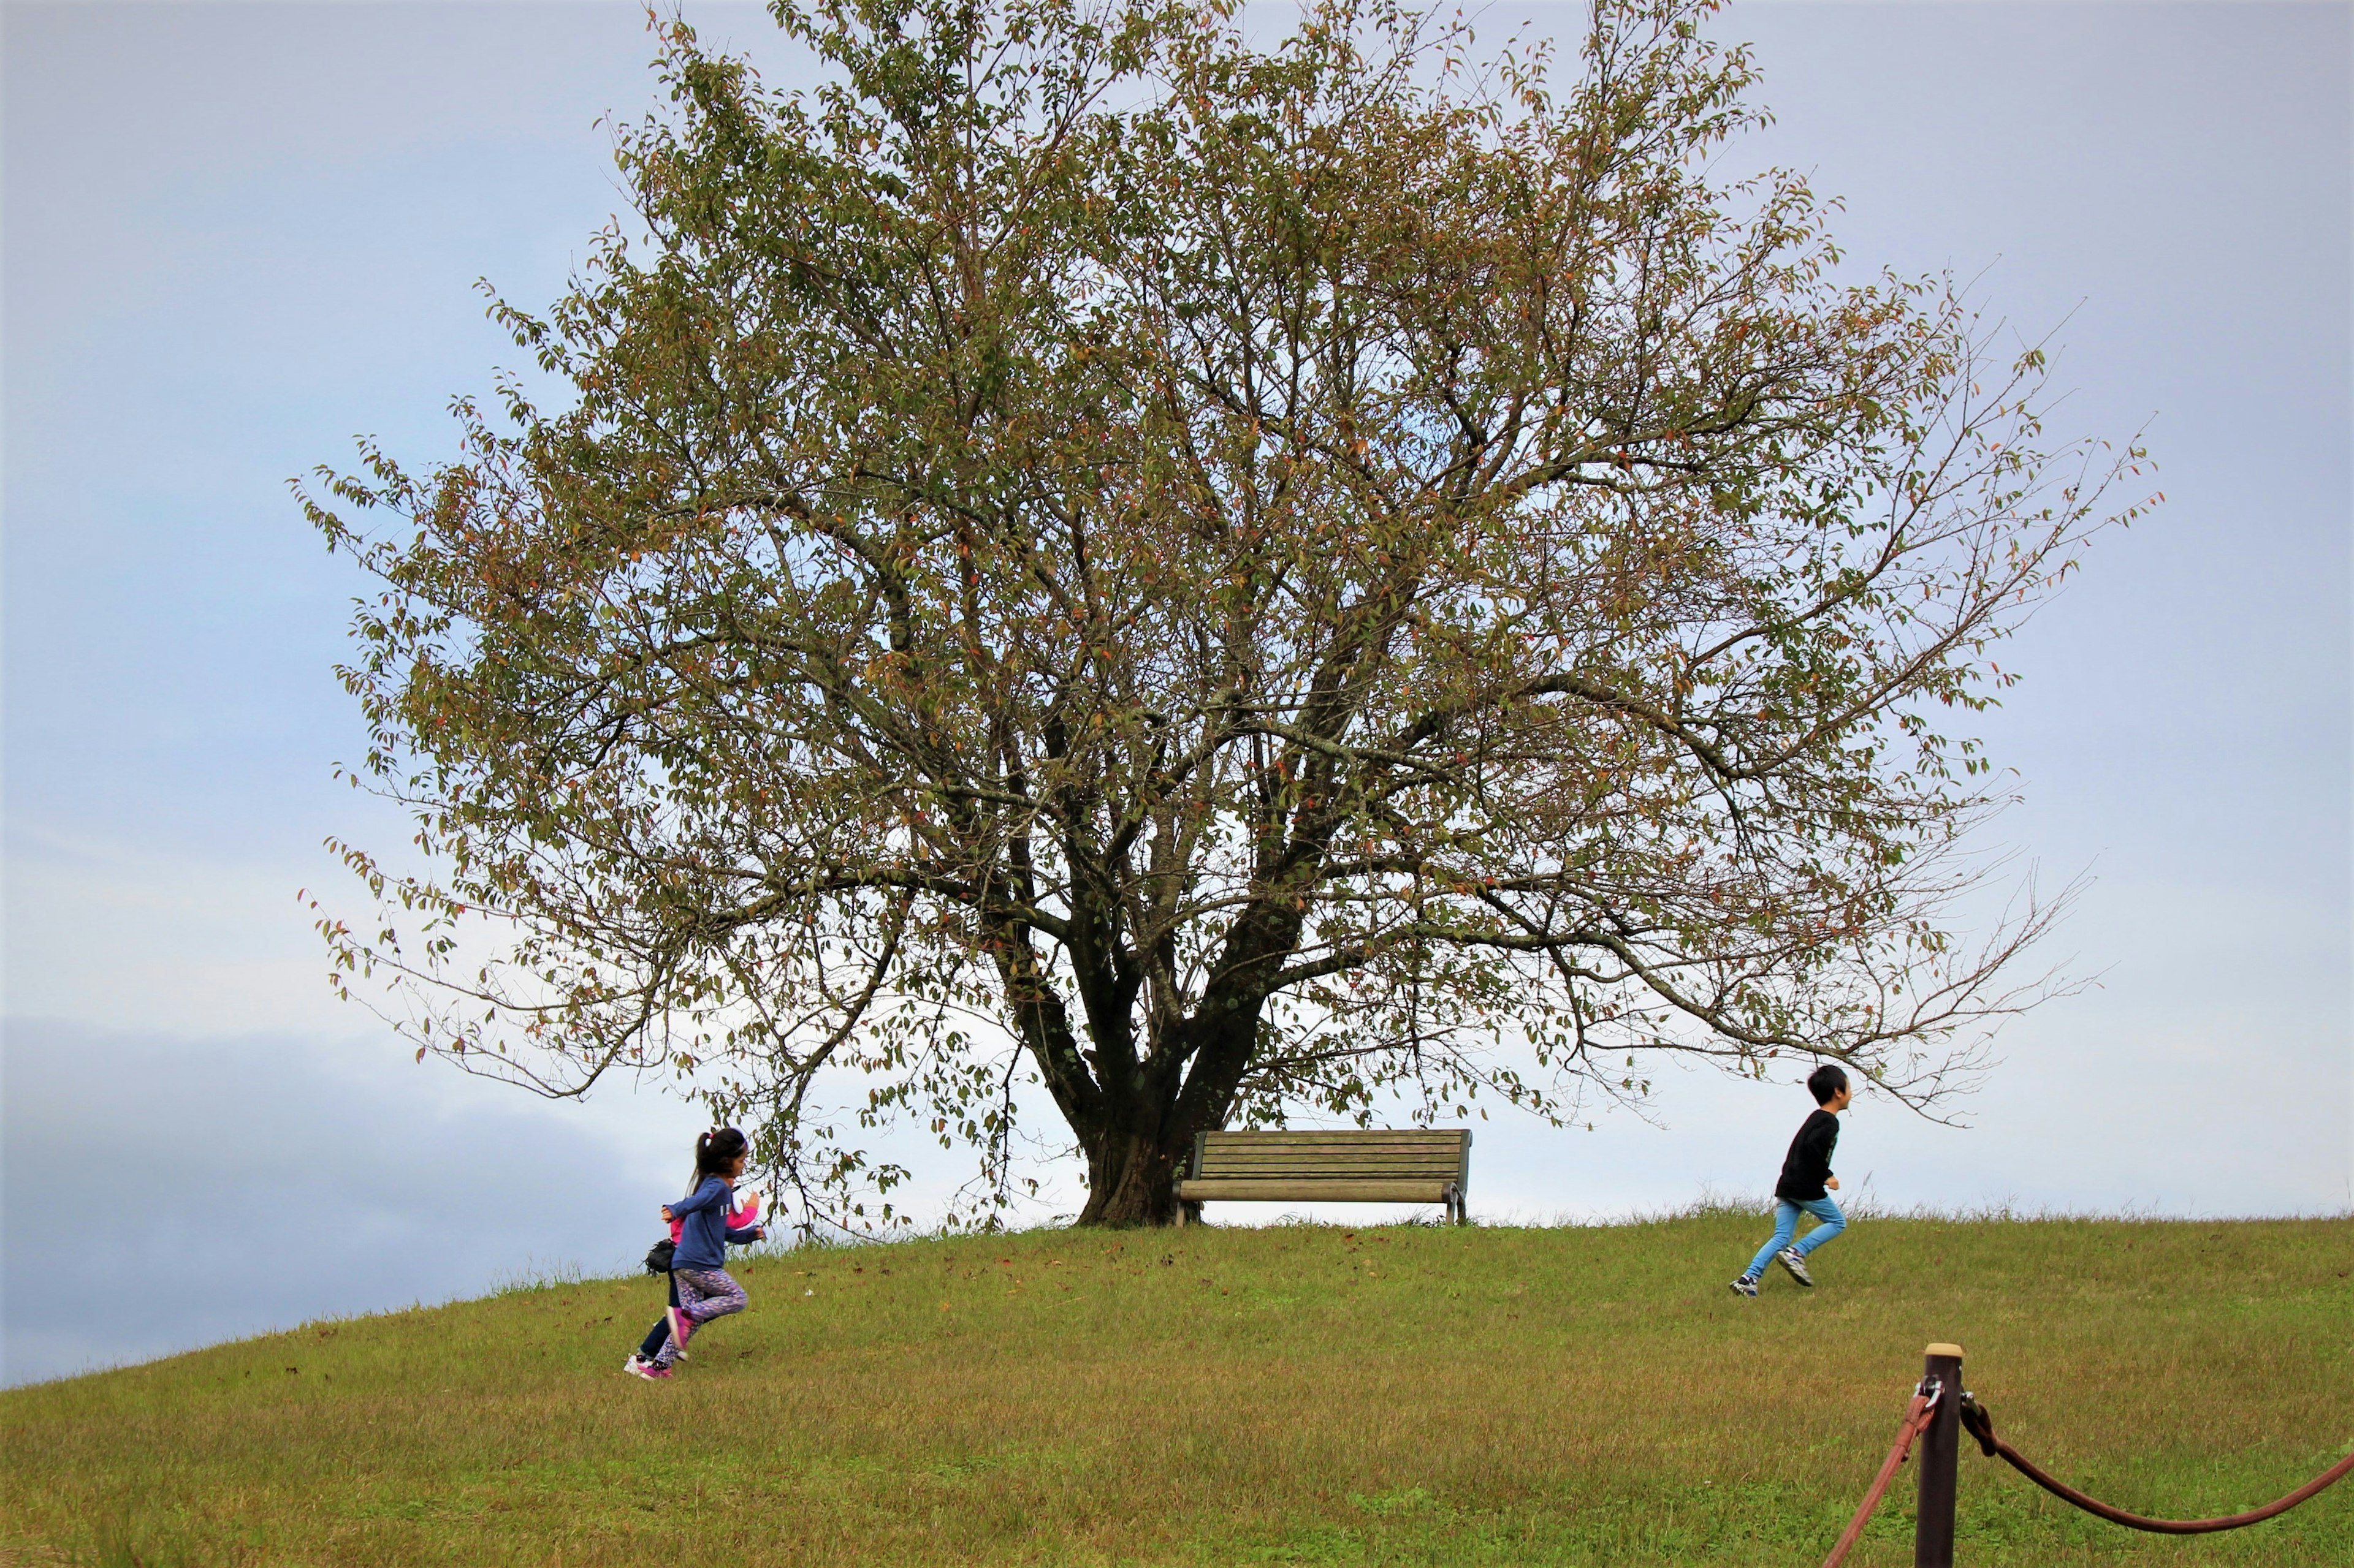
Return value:
<svg viewBox="0 0 2354 1568">
<path fill-rule="evenodd" d="M 666 1099 L 548 1107 L 355 1043 L 49 1019 L 7 1024 L 0 1090 L 7 1382 L 626 1269 L 694 1125 Z"/>
</svg>

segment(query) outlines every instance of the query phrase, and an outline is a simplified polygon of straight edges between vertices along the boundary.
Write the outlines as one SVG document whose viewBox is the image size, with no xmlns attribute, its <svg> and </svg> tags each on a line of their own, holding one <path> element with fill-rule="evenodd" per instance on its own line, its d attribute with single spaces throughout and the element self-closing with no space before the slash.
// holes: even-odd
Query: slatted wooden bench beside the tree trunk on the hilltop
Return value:
<svg viewBox="0 0 2354 1568">
<path fill-rule="evenodd" d="M 1445 1203 L 1469 1224 L 1469 1128 L 1403 1132 L 1196 1132 L 1193 1163 L 1177 1182 L 1177 1224 L 1210 1198 L 1309 1203 Z"/>
</svg>

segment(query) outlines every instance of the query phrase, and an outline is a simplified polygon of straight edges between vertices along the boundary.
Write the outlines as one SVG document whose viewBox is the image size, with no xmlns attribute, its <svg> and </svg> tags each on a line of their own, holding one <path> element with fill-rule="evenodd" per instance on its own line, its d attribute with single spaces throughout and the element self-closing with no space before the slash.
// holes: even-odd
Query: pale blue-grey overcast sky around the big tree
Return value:
<svg viewBox="0 0 2354 1568">
<path fill-rule="evenodd" d="M 690 14 L 796 68 L 753 7 Z M 1490 31 L 1511 14 L 1577 12 L 1497 5 Z M 2349 14 L 1725 21 L 1777 113 L 1737 155 L 1843 195 L 1860 266 L 1954 268 L 2060 327 L 2062 426 L 2147 426 L 2168 492 L 2003 655 L 2027 680 L 1987 723 L 2024 796 L 1989 848 L 2093 871 L 2055 956 L 2102 984 L 2001 1036 L 1966 1128 L 1860 1104 L 1850 1196 L 2354 1203 Z M 596 120 L 654 104 L 640 12 L 9 2 L 0 47 L 0 1370 L 624 1267 L 690 1109 L 414 1067 L 325 991 L 297 888 L 355 909 L 320 841 L 405 831 L 330 779 L 358 751 L 330 676 L 358 584 L 285 480 L 363 431 L 452 450 L 447 398 L 518 358 L 476 278 L 551 299 L 619 205 Z M 1471 1208 L 1763 1194 L 1803 1111 L 1787 1081 L 1669 1069 L 1660 1125 L 1481 1123 Z M 1069 1208 L 1076 1172 L 1038 1212 Z"/>
</svg>

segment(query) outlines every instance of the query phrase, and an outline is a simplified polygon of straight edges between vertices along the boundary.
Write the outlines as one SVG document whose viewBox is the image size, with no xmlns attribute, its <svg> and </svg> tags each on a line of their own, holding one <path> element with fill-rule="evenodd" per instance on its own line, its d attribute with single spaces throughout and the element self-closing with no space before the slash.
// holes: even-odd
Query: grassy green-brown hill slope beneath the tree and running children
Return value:
<svg viewBox="0 0 2354 1568">
<path fill-rule="evenodd" d="M 1024 1234 L 749 1262 L 671 1384 L 650 1278 L 311 1326 L 0 1396 L 16 1563 L 1820 1563 L 1928 1340 L 2154 1514 L 2354 1446 L 2354 1222 L 1740 1215 Z M 268 1269 L 257 1269 L 268 1288 Z M 68 1285 L 71 1288 L 71 1285 Z M 1911 1561 L 1902 1476 L 1857 1563 Z M 1963 1563 L 2354 1563 L 2354 1483 L 2130 1535 L 1975 1450 Z"/>
</svg>

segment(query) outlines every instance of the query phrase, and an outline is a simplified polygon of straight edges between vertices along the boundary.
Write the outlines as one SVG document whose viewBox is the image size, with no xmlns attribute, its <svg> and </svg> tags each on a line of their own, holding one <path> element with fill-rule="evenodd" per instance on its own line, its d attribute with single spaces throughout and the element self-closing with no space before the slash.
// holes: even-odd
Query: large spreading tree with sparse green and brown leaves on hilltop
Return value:
<svg viewBox="0 0 2354 1568">
<path fill-rule="evenodd" d="M 796 94 L 661 24 L 633 221 L 492 304 L 563 407 L 306 497 L 424 850 L 344 845 L 398 913 L 322 918 L 344 984 L 685 1074 L 836 1220 L 895 1118 L 1003 1198 L 1026 1081 L 1083 1222 L 1201 1128 L 1657 1052 L 1951 1092 L 2048 909 L 1949 935 L 1940 720 L 2137 452 L 1718 177 L 1704 9 L 1601 0 L 1565 85 L 1382 0 L 782 0 Z"/>
</svg>

